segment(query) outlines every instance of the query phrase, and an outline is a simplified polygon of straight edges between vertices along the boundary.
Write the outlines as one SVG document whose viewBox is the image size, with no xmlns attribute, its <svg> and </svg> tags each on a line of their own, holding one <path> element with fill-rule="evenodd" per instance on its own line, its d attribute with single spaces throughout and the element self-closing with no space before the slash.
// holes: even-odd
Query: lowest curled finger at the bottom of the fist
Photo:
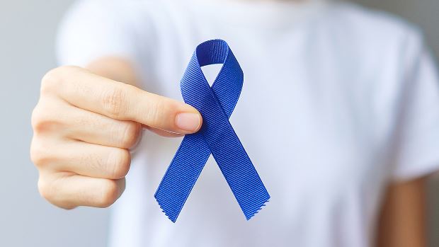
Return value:
<svg viewBox="0 0 439 247">
<path fill-rule="evenodd" d="M 40 173 L 38 190 L 58 207 L 109 207 L 125 190 L 125 178 L 110 180 L 70 173 Z"/>
</svg>

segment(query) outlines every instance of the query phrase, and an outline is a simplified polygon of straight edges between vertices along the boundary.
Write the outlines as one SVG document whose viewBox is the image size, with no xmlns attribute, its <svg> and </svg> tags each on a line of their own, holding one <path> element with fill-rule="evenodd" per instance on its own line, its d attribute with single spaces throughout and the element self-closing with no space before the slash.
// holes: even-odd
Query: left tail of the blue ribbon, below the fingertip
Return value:
<svg viewBox="0 0 439 247">
<path fill-rule="evenodd" d="M 210 149 L 200 134 L 186 134 L 154 195 L 172 222 L 176 222 L 209 156 Z"/>
</svg>

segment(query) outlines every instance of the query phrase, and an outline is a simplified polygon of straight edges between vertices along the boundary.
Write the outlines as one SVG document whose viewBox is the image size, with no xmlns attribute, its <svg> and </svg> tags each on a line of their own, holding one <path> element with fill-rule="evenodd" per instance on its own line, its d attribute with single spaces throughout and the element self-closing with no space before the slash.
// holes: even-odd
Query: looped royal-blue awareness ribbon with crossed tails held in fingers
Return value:
<svg viewBox="0 0 439 247">
<path fill-rule="evenodd" d="M 212 87 L 201 71 L 210 64 L 223 64 Z M 244 74 L 227 42 L 208 40 L 198 45 L 181 79 L 181 94 L 201 113 L 203 126 L 183 138 L 154 195 L 172 222 L 176 222 L 211 153 L 246 219 L 270 199 L 229 122 L 243 81 Z"/>
</svg>

